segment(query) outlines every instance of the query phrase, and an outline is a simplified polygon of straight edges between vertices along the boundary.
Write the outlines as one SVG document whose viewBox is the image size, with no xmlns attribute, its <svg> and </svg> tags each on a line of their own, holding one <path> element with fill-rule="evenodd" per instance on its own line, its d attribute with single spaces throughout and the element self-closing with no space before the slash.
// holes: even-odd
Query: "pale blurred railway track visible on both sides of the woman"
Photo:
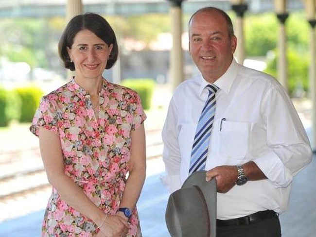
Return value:
<svg viewBox="0 0 316 237">
<path fill-rule="evenodd" d="M 160 131 L 147 133 L 147 160 L 161 157 Z M 0 154 L 0 203 L 18 199 L 51 187 L 42 165 L 38 147 Z"/>
</svg>

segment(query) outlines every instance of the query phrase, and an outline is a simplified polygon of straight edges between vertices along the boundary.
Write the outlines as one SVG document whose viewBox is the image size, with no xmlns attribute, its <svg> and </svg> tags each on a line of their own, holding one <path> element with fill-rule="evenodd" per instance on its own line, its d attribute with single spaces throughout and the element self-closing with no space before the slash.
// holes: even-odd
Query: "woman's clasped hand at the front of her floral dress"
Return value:
<svg viewBox="0 0 316 237">
<path fill-rule="evenodd" d="M 96 237 L 126 237 L 129 228 L 128 221 L 119 215 L 107 215 Z"/>
</svg>

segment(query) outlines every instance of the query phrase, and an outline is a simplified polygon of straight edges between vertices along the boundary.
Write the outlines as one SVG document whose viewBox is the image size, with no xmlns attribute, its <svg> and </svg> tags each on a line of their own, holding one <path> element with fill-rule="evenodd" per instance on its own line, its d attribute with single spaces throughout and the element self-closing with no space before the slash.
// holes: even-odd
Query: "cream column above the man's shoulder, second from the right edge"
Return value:
<svg viewBox="0 0 316 237">
<path fill-rule="evenodd" d="M 279 20 L 279 40 L 278 40 L 278 80 L 283 85 L 285 90 L 288 92 L 288 78 L 287 78 L 287 53 L 286 53 L 286 31 L 285 21 L 289 16 L 286 13 L 286 1 L 285 0 L 274 0 L 275 12 Z"/>
</svg>

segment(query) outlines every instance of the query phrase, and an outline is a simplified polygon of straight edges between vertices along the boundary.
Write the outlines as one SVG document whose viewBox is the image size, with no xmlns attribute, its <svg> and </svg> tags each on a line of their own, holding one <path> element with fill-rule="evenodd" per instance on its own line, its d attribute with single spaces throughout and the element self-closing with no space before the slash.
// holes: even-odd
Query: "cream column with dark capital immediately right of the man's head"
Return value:
<svg viewBox="0 0 316 237">
<path fill-rule="evenodd" d="M 231 8 L 237 15 L 235 22 L 235 35 L 237 36 L 237 48 L 235 56 L 238 63 L 244 64 L 245 53 L 245 38 L 244 38 L 244 14 L 248 8 L 247 4 L 243 3 L 244 0 L 231 0 Z"/>
</svg>

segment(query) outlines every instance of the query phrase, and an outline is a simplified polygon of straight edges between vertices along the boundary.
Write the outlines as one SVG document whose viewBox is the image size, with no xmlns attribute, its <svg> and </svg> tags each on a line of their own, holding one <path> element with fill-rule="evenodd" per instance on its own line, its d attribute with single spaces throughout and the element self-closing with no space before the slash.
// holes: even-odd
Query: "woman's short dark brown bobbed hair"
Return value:
<svg viewBox="0 0 316 237">
<path fill-rule="evenodd" d="M 117 44 L 115 33 L 110 24 L 105 20 L 104 17 L 96 13 L 85 13 L 73 17 L 67 24 L 60 40 L 58 43 L 59 57 L 63 61 L 63 66 L 71 71 L 74 71 L 74 64 L 70 60 L 70 56 L 67 51 L 67 47 L 71 49 L 74 37 L 79 31 L 89 30 L 102 39 L 108 46 L 113 44 L 112 51 L 107 60 L 105 69 L 113 67 L 117 61 L 119 54 L 119 47 Z"/>
</svg>

